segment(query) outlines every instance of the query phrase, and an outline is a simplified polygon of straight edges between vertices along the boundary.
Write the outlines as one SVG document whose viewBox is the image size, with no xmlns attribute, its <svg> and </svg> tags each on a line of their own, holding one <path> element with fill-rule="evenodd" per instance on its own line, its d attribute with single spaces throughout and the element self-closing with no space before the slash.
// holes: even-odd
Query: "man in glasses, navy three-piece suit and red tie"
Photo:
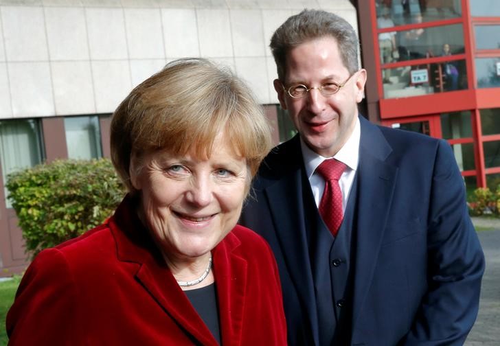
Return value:
<svg viewBox="0 0 500 346">
<path fill-rule="evenodd" d="M 358 45 L 323 11 L 274 33 L 299 135 L 266 158 L 241 221 L 275 253 L 290 345 L 462 345 L 484 271 L 462 176 L 446 141 L 359 115 Z"/>
</svg>

